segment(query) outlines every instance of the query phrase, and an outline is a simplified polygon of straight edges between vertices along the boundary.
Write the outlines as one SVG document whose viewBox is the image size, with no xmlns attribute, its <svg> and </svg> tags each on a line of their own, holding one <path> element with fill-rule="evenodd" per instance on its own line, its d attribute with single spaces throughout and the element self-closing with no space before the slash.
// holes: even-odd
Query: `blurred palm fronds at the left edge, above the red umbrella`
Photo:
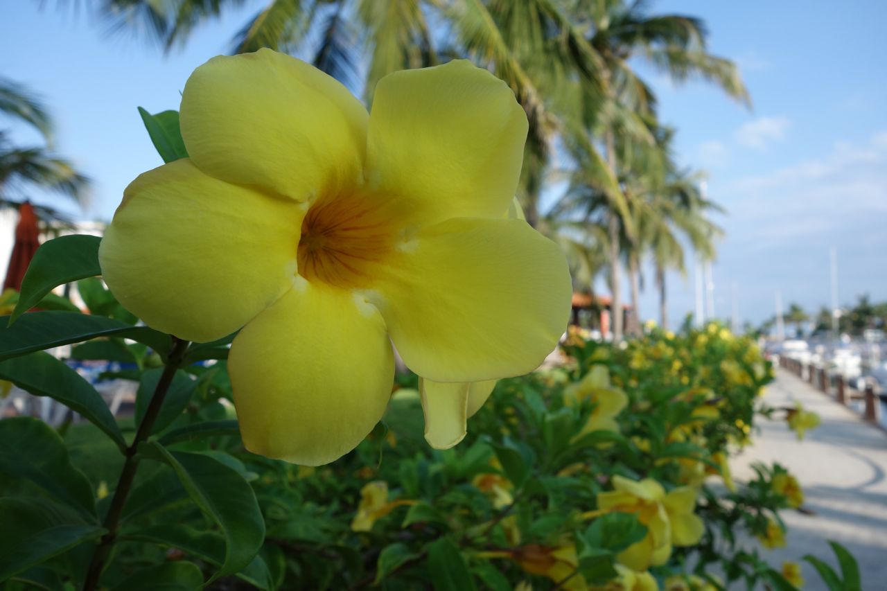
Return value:
<svg viewBox="0 0 887 591">
<path fill-rule="evenodd" d="M 29 185 L 60 193 L 81 202 L 89 179 L 71 162 L 51 152 L 52 121 L 43 104 L 20 84 L 0 79 L 0 114 L 38 130 L 45 146 L 15 146 L 9 133 L 0 130 L 0 203 L 17 205 Z M 50 212 L 51 209 L 44 209 Z"/>
</svg>

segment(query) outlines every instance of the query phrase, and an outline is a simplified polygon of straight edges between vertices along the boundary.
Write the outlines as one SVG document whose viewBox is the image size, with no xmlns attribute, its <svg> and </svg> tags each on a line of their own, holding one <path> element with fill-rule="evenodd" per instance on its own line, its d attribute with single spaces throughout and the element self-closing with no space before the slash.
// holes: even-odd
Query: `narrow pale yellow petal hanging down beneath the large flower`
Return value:
<svg viewBox="0 0 887 591">
<path fill-rule="evenodd" d="M 469 383 L 432 382 L 419 379 L 425 440 L 435 449 L 450 449 L 466 433 Z"/>
</svg>

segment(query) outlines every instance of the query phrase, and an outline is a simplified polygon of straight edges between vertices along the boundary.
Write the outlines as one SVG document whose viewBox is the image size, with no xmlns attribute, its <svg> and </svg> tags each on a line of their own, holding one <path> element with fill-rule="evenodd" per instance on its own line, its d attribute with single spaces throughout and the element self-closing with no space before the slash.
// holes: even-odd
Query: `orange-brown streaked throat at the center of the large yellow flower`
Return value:
<svg viewBox="0 0 887 591">
<path fill-rule="evenodd" d="M 371 200 L 338 196 L 311 205 L 302 220 L 299 274 L 339 288 L 365 288 L 391 250 L 394 228 Z"/>
</svg>

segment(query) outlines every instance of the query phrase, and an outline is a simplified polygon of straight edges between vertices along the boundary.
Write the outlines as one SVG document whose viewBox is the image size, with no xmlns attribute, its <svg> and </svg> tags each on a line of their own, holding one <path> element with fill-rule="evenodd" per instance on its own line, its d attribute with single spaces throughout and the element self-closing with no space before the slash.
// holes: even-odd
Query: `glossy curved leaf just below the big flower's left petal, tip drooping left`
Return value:
<svg viewBox="0 0 887 591">
<path fill-rule="evenodd" d="M 98 244 L 101 241 L 98 236 L 75 234 L 43 242 L 21 280 L 19 303 L 15 304 L 9 323 L 15 322 L 59 285 L 101 275 L 98 266 Z"/>
</svg>

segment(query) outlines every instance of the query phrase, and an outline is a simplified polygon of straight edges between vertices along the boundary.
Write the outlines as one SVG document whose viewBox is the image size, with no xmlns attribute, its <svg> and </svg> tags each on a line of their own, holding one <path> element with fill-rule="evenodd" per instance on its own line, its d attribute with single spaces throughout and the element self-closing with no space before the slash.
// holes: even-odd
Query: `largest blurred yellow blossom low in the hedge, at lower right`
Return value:
<svg viewBox="0 0 887 591">
<path fill-rule="evenodd" d="M 613 477 L 613 487 L 616 490 L 598 494 L 598 508 L 635 513 L 647 526 L 647 536 L 617 556 L 625 566 L 646 571 L 665 563 L 672 545 L 693 546 L 703 537 L 703 521 L 694 514 L 694 488 L 681 486 L 666 494 L 652 478 L 638 482 L 621 476 Z"/>
</svg>

